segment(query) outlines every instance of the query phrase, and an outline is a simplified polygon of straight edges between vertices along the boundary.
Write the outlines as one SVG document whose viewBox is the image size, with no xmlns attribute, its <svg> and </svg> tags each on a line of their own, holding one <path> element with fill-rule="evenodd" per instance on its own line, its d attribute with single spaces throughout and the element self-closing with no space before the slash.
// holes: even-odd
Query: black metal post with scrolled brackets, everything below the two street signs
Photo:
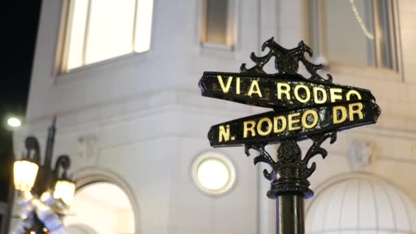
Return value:
<svg viewBox="0 0 416 234">
<path fill-rule="evenodd" d="M 313 196 L 309 188 L 308 177 L 315 170 L 315 163 L 308 168 L 311 157 L 317 154 L 326 155 L 320 144 L 330 138 L 330 135 L 321 135 L 313 139 L 314 144 L 309 148 L 302 159 L 302 151 L 296 140 L 281 142 L 277 150 L 277 161 L 264 150 L 254 146 L 261 153 L 263 161 L 270 161 L 272 172 L 264 170 L 266 179 L 272 181 L 268 197 L 276 200 L 276 233 L 277 234 L 304 234 L 304 199 Z M 253 147 L 250 147 L 253 148 Z M 255 160 L 256 161 L 256 160 Z"/>
</svg>

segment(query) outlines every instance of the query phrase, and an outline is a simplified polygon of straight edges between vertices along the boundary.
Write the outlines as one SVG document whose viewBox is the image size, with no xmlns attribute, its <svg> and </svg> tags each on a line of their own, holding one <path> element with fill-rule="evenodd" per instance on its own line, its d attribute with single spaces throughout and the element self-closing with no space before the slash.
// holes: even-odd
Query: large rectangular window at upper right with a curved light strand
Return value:
<svg viewBox="0 0 416 234">
<path fill-rule="evenodd" d="M 309 3 L 311 47 L 330 64 L 398 70 L 391 0 Z"/>
</svg>

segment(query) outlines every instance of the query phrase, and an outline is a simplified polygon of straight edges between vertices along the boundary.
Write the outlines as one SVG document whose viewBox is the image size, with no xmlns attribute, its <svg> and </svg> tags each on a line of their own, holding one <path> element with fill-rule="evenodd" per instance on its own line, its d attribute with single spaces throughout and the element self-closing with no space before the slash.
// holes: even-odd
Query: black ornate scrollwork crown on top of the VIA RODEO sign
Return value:
<svg viewBox="0 0 416 234">
<path fill-rule="evenodd" d="M 307 44 L 304 44 L 302 40 L 298 43 L 298 47 L 294 49 L 285 49 L 281 47 L 280 44 L 277 44 L 274 41 L 274 38 L 270 38 L 263 43 L 261 51 L 264 51 L 266 48 L 269 49 L 269 52 L 263 57 L 257 57 L 254 52 L 251 53 L 250 59 L 252 62 L 255 62 L 256 65 L 252 68 L 246 68 L 246 64 L 242 64 L 242 66 L 240 66 L 240 72 L 266 74 L 263 70 L 263 66 L 265 66 L 265 64 L 267 64 L 272 57 L 274 57 L 274 67 L 278 71 L 278 74 L 296 74 L 298 73 L 299 62 L 302 62 L 308 73 L 311 74 L 311 77 L 308 79 L 322 81 L 325 83 L 333 82 L 333 77 L 329 74 L 327 74 L 327 78 L 324 79 L 324 77 L 321 77 L 317 73 L 318 70 L 322 70 L 322 64 L 313 64 L 309 62 L 306 57 L 304 57 L 304 53 L 307 53 L 310 57 L 312 57 L 313 51 L 307 46 Z"/>
</svg>

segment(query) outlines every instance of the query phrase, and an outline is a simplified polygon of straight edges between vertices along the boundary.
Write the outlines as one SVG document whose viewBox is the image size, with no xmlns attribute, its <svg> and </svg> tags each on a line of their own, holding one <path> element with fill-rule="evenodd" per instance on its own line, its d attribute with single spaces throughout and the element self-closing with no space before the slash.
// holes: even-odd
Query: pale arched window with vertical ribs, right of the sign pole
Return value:
<svg viewBox="0 0 416 234">
<path fill-rule="evenodd" d="M 416 233 L 416 207 L 397 187 L 364 174 L 317 191 L 307 210 L 307 233 Z"/>
</svg>

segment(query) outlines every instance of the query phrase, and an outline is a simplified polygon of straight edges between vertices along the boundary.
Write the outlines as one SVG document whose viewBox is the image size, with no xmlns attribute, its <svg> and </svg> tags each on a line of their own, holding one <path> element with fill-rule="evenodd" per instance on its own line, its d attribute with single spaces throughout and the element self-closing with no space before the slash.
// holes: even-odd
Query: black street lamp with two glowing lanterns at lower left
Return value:
<svg viewBox="0 0 416 234">
<path fill-rule="evenodd" d="M 38 140 L 34 136 L 26 138 L 25 155 L 22 159 L 14 162 L 14 187 L 25 198 L 29 197 L 29 200 L 31 198 L 42 199 L 42 197 L 49 195 L 63 207 L 69 207 L 75 194 L 75 183 L 67 176 L 70 158 L 68 155 L 60 155 L 56 160 L 55 168 L 51 168 L 56 132 L 55 122 L 56 118 L 54 117 L 48 130 L 43 165 L 40 164 Z M 36 202 L 38 203 L 38 200 Z M 29 231 L 47 233 L 47 229 L 44 229 L 44 224 L 36 211 L 33 211 L 31 215 L 33 222 Z"/>
</svg>

